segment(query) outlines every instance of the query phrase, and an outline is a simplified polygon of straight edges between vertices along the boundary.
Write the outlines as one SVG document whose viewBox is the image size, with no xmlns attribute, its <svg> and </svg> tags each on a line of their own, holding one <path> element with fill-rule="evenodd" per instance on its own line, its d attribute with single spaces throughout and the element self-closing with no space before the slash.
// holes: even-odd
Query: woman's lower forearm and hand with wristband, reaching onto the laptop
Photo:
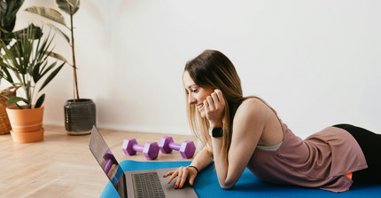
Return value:
<svg viewBox="0 0 381 198">
<path fill-rule="evenodd" d="M 213 162 L 213 156 L 209 153 L 209 151 L 204 147 L 198 154 L 196 154 L 195 158 L 191 162 L 190 166 L 195 166 L 199 171 L 204 170 L 206 166 L 208 166 L 211 162 Z M 176 177 L 177 180 L 175 182 L 175 188 L 182 188 L 186 179 L 189 179 L 189 183 L 193 186 L 194 179 L 198 174 L 198 170 L 192 167 L 180 167 L 175 171 L 169 171 L 164 175 L 164 178 L 171 175 L 168 179 L 168 184 L 172 182 L 172 180 Z"/>
</svg>

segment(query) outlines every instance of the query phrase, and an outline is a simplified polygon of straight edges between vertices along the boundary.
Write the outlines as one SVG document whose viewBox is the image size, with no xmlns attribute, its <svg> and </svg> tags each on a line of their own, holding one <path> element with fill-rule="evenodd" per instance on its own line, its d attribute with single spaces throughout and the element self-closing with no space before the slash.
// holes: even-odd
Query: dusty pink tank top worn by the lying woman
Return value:
<svg viewBox="0 0 381 198">
<path fill-rule="evenodd" d="M 343 192 L 353 183 L 346 173 L 368 168 L 361 147 L 345 130 L 328 127 L 302 140 L 285 123 L 282 128 L 282 145 L 276 151 L 256 148 L 247 165 L 266 182 Z"/>
</svg>

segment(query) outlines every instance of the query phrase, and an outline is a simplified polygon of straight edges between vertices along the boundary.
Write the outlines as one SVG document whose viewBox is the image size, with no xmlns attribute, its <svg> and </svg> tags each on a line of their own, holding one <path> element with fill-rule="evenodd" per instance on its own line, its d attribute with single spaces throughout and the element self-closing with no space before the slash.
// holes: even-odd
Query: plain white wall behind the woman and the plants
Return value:
<svg viewBox="0 0 381 198">
<path fill-rule="evenodd" d="M 35 4 L 55 7 L 23 7 Z M 334 123 L 381 133 L 380 8 L 376 0 L 82 0 L 80 95 L 97 103 L 99 127 L 190 134 L 183 67 L 216 49 L 237 67 L 245 95 L 267 100 L 300 137 Z M 40 18 L 19 12 L 18 28 L 28 21 Z M 64 124 L 71 74 L 66 67 L 46 88 L 44 123 Z"/>
</svg>

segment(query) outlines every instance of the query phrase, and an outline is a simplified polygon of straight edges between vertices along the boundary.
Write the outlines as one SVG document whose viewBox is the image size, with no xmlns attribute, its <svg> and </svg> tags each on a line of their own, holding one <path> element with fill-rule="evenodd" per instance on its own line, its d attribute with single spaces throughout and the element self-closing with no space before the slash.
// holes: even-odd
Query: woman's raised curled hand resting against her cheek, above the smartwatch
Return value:
<svg viewBox="0 0 381 198">
<path fill-rule="evenodd" d="M 216 89 L 210 96 L 206 97 L 204 107 L 210 128 L 222 127 L 222 117 L 225 109 L 222 91 Z"/>
</svg>

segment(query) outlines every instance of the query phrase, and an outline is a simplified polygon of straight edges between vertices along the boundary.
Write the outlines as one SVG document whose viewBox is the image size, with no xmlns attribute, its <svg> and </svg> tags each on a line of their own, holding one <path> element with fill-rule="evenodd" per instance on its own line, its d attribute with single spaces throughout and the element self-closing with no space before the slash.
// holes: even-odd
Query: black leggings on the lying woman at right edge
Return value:
<svg viewBox="0 0 381 198">
<path fill-rule="evenodd" d="M 381 183 L 381 134 L 350 124 L 337 124 L 334 127 L 348 131 L 359 143 L 365 155 L 368 169 L 355 171 L 354 182 Z"/>
</svg>

